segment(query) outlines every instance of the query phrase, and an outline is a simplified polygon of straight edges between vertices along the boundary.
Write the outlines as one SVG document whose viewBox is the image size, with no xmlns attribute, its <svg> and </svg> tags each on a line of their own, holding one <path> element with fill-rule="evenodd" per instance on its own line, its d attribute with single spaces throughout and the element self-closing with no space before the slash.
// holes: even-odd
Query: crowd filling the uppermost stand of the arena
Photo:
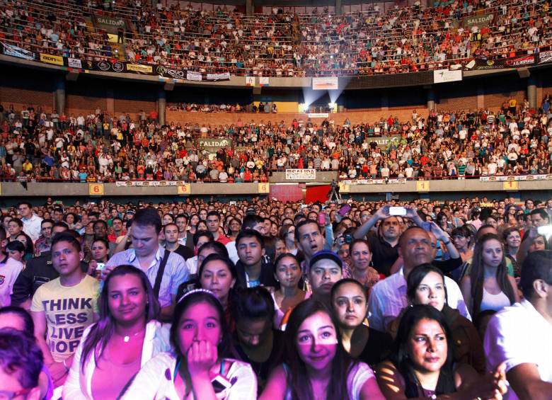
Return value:
<svg viewBox="0 0 552 400">
<path fill-rule="evenodd" d="M 195 72 L 253 76 L 394 74 L 501 59 L 548 50 L 548 0 L 434 1 L 430 7 L 395 6 L 336 16 L 277 11 L 244 16 L 198 11 L 190 4 L 151 6 L 115 2 L 4 0 L 1 39 L 33 52 L 90 61 L 127 60 Z M 493 14 L 488 26 L 464 26 L 469 16 Z M 93 16 L 122 18 L 128 28 L 117 45 L 87 26 Z M 126 29 L 126 30 L 125 30 Z M 119 42 L 123 42 L 119 45 Z"/>
</svg>

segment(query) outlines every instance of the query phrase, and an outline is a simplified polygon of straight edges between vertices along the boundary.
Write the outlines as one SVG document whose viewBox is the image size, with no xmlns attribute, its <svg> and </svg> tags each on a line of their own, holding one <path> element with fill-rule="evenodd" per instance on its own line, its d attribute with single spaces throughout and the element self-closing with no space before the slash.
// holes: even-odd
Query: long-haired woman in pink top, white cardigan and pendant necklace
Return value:
<svg viewBox="0 0 552 400">
<path fill-rule="evenodd" d="M 63 398 L 117 399 L 142 365 L 171 348 L 158 314 L 146 274 L 132 265 L 113 269 L 100 295 L 100 320 L 84 331 Z"/>
</svg>

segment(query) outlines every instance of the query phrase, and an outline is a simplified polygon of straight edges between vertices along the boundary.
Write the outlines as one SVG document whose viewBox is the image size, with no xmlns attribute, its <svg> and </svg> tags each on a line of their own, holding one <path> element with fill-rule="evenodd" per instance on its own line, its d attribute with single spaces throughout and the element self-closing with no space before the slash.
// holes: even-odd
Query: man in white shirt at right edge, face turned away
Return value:
<svg viewBox="0 0 552 400">
<path fill-rule="evenodd" d="M 483 347 L 488 367 L 505 363 L 506 400 L 550 399 L 552 394 L 552 251 L 525 258 L 519 282 L 524 299 L 490 319 Z"/>
</svg>

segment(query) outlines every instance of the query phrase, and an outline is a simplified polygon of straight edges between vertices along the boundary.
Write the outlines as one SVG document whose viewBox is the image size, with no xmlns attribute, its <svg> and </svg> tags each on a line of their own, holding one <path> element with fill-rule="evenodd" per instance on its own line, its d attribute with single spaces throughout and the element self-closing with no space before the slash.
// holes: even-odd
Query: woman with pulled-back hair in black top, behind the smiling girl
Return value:
<svg viewBox="0 0 552 400">
<path fill-rule="evenodd" d="M 366 291 L 354 279 L 342 279 L 331 292 L 333 314 L 339 321 L 343 348 L 354 358 L 375 365 L 391 348 L 391 336 L 364 325 L 368 312 Z"/>
</svg>

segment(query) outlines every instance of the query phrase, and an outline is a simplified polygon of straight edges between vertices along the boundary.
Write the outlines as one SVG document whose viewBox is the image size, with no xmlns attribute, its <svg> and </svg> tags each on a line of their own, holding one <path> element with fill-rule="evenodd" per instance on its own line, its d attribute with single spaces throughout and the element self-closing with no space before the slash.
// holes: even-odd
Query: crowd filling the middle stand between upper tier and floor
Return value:
<svg viewBox="0 0 552 400">
<path fill-rule="evenodd" d="M 4 181 L 267 182 L 286 168 L 335 171 L 341 180 L 478 178 L 552 172 L 550 95 L 538 109 L 505 99 L 500 110 L 413 110 L 343 125 L 324 120 L 232 125 L 174 122 L 156 112 L 110 115 L 47 113 L 0 105 L 0 177 Z M 336 114 L 339 115 L 339 114 Z M 379 137 L 388 142 L 378 144 Z M 231 139 L 218 150 L 200 138 Z"/>
</svg>

